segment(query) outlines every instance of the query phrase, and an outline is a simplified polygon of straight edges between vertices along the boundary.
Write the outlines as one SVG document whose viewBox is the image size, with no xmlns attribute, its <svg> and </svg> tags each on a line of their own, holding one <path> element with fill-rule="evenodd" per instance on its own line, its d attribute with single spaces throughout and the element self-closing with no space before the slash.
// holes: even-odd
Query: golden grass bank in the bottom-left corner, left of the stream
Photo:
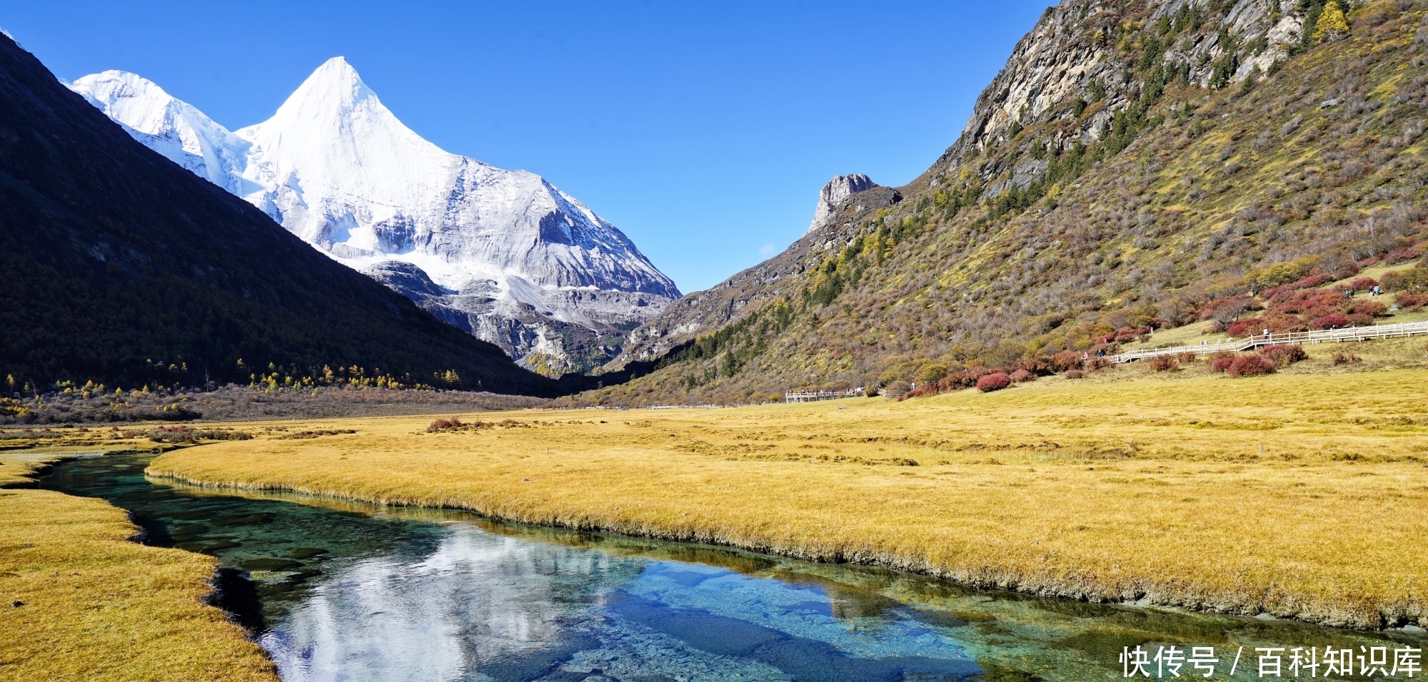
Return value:
<svg viewBox="0 0 1428 682">
<path fill-rule="evenodd" d="M 216 559 L 129 542 L 134 532 L 100 499 L 0 489 L 0 679 L 276 681 L 263 651 L 198 601 Z"/>
</svg>

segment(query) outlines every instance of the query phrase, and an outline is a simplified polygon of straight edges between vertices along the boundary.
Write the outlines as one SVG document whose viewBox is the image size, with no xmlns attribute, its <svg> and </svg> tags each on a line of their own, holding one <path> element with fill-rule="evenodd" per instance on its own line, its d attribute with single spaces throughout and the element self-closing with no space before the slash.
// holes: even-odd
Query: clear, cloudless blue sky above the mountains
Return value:
<svg viewBox="0 0 1428 682">
<path fill-rule="evenodd" d="M 1047 4 L 47 0 L 0 27 L 228 128 L 346 56 L 418 134 L 544 175 L 688 292 L 797 240 L 830 177 L 927 170 Z"/>
</svg>

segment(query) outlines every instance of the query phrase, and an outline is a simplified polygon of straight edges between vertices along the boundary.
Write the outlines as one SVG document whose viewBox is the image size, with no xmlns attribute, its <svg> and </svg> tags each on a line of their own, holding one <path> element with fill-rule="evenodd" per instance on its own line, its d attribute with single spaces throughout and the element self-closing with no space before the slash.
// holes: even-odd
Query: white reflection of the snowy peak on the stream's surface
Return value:
<svg viewBox="0 0 1428 682">
<path fill-rule="evenodd" d="M 553 653 L 588 645 L 570 625 L 641 565 L 454 525 L 421 561 L 366 559 L 330 576 L 261 643 L 287 682 L 468 679 L 527 659 L 548 666 Z"/>
</svg>

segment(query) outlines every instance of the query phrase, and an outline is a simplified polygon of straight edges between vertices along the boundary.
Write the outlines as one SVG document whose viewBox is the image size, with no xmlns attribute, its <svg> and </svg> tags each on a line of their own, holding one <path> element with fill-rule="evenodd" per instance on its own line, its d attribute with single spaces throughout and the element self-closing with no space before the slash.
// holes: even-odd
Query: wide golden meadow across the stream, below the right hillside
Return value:
<svg viewBox="0 0 1428 682">
<path fill-rule="evenodd" d="M 1428 370 L 1341 372 L 1325 355 L 1344 348 L 1240 380 L 1130 365 L 905 402 L 290 422 L 356 432 L 186 448 L 149 471 L 1041 595 L 1428 622 Z"/>
</svg>

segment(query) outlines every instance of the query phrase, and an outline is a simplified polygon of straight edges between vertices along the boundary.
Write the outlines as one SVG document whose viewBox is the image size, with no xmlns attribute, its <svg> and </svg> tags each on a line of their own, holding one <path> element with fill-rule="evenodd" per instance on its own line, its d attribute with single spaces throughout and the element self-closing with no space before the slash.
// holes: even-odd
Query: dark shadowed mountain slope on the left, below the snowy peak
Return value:
<svg viewBox="0 0 1428 682">
<path fill-rule="evenodd" d="M 557 384 L 130 138 L 0 37 L 0 390 Z"/>
</svg>

